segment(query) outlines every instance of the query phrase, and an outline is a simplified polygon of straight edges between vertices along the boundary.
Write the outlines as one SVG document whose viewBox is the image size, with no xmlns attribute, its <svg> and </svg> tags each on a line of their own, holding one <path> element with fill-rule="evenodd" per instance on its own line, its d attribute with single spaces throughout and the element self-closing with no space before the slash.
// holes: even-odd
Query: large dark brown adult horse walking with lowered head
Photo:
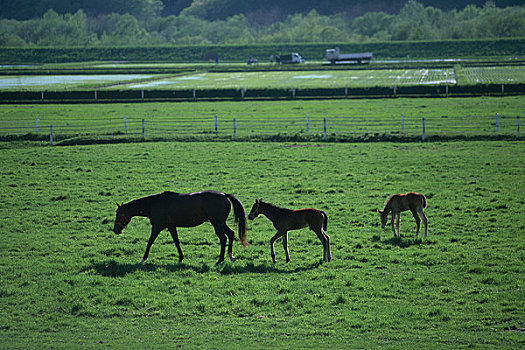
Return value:
<svg viewBox="0 0 525 350">
<path fill-rule="evenodd" d="M 239 240 L 246 248 L 246 214 L 242 203 L 232 194 L 203 191 L 195 193 L 163 192 L 148 197 L 136 199 L 126 204 L 117 204 L 117 217 L 113 232 L 120 234 L 134 216 L 145 216 L 151 222 L 151 236 L 149 237 L 146 252 L 140 262 L 143 264 L 149 255 L 149 250 L 160 231 L 167 228 L 175 246 L 179 251 L 179 261 L 184 255 L 180 249 L 177 227 L 194 227 L 206 221 L 210 221 L 215 233 L 221 241 L 221 253 L 217 264 L 224 261 L 226 248 L 226 236 L 228 237 L 228 255 L 232 261 L 235 260 L 232 252 L 234 232 L 226 225 L 226 219 L 230 214 L 231 204 L 235 222 L 238 223 Z"/>
</svg>

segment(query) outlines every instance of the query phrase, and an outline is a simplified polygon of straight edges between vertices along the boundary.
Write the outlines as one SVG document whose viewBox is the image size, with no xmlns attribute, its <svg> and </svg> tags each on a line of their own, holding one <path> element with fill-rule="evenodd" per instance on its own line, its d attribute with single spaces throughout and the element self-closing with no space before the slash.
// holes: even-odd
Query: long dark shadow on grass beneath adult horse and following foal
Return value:
<svg viewBox="0 0 525 350">
<path fill-rule="evenodd" d="M 168 271 L 168 272 L 180 272 L 180 271 L 193 271 L 195 273 L 206 273 L 209 272 L 212 268 L 215 268 L 218 273 L 221 275 L 235 275 L 242 273 L 296 273 L 302 271 L 313 270 L 318 268 L 321 265 L 321 261 L 314 262 L 309 265 L 300 266 L 295 269 L 283 269 L 278 267 L 275 264 L 253 264 L 251 262 L 247 264 L 242 264 L 241 262 L 223 262 L 219 265 L 213 265 L 210 267 L 207 264 L 202 265 L 192 265 L 187 263 L 174 263 L 174 264 L 154 264 L 146 263 L 144 265 L 136 263 L 119 263 L 115 260 L 105 261 L 96 263 L 92 266 L 87 266 L 82 269 L 82 272 L 95 270 L 95 272 L 104 277 L 124 277 L 127 274 L 134 273 L 135 271 Z"/>
</svg>

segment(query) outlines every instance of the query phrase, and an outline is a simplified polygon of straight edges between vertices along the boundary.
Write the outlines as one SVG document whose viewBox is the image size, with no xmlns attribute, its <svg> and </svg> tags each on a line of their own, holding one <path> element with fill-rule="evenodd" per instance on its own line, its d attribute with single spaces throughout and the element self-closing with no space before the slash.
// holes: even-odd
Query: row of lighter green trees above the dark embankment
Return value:
<svg viewBox="0 0 525 350">
<path fill-rule="evenodd" d="M 398 14 L 368 12 L 353 20 L 322 16 L 312 10 L 269 25 L 248 21 L 244 15 L 216 21 L 184 12 L 161 17 L 160 10 L 153 8 L 137 16 L 112 13 L 97 17 L 88 17 L 82 10 L 65 15 L 49 10 L 39 19 L 2 19 L 0 46 L 366 42 L 522 37 L 525 33 L 525 6 L 502 9 L 492 2 L 483 7 L 469 5 L 461 11 L 442 11 L 410 0 Z"/>
</svg>

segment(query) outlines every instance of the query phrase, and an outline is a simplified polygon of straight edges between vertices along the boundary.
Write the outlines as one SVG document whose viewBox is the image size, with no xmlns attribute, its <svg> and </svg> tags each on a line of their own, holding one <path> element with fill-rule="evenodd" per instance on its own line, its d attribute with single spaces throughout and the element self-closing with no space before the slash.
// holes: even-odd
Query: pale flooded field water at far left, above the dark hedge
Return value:
<svg viewBox="0 0 525 350">
<path fill-rule="evenodd" d="M 53 88 L 78 84 L 107 84 L 120 81 L 149 79 L 152 75 L 114 74 L 114 75 L 48 75 L 48 76 L 14 76 L 0 78 L 0 89 Z"/>
</svg>

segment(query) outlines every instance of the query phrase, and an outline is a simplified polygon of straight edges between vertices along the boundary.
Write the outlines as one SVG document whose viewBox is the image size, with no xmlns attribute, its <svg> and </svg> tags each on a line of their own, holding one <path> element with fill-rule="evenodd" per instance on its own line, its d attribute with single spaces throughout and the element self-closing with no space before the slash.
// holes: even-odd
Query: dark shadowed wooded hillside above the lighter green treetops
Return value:
<svg viewBox="0 0 525 350">
<path fill-rule="evenodd" d="M 48 10 L 58 14 L 82 10 L 88 17 L 111 13 L 129 13 L 140 17 L 145 11 L 156 12 L 162 17 L 186 15 L 209 21 L 225 20 L 244 15 L 251 21 L 270 24 L 283 21 L 295 13 L 307 14 L 311 10 L 324 16 L 343 14 L 347 19 L 367 12 L 398 13 L 408 0 L 0 0 L 0 18 L 28 20 L 41 18 Z M 486 0 L 420 0 L 426 6 L 443 11 L 462 10 L 468 5 L 482 7 Z M 523 0 L 494 0 L 497 7 L 522 5 Z"/>
</svg>

